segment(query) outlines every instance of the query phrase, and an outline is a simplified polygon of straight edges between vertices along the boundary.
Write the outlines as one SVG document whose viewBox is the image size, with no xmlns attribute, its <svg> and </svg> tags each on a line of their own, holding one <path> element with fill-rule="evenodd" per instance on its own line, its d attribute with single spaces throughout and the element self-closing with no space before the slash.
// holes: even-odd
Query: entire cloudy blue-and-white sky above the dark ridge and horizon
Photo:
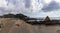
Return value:
<svg viewBox="0 0 60 33">
<path fill-rule="evenodd" d="M 0 15 L 8 13 L 33 18 L 60 17 L 60 0 L 0 0 Z"/>
</svg>

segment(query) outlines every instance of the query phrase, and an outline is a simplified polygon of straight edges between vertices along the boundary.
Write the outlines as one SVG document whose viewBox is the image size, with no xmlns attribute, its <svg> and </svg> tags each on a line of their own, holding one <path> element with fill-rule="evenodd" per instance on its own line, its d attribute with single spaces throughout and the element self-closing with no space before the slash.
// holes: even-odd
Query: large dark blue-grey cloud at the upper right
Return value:
<svg viewBox="0 0 60 33">
<path fill-rule="evenodd" d="M 50 12 L 50 11 L 59 10 L 59 9 L 60 9 L 60 5 L 55 1 L 52 1 L 48 6 L 42 8 L 44 12 Z"/>
</svg>

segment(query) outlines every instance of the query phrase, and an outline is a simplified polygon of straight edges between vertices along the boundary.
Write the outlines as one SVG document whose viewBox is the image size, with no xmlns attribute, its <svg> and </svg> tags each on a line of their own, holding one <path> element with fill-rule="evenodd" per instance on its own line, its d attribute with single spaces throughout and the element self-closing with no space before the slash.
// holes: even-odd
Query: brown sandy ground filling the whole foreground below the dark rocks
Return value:
<svg viewBox="0 0 60 33">
<path fill-rule="evenodd" d="M 31 25 L 14 18 L 0 18 L 0 33 L 59 33 L 60 25 Z"/>
</svg>

